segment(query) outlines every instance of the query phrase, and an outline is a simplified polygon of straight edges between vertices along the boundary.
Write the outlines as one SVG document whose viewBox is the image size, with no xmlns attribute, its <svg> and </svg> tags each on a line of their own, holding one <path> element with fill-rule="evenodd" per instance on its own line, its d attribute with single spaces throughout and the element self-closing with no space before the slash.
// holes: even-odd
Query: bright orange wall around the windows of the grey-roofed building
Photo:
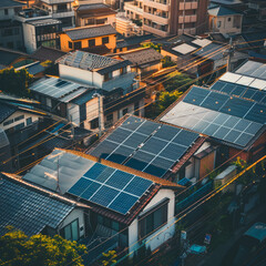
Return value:
<svg viewBox="0 0 266 266">
<path fill-rule="evenodd" d="M 95 37 L 95 38 L 88 38 L 84 40 L 76 40 L 76 41 L 72 41 L 65 33 L 60 34 L 60 45 L 61 45 L 61 50 L 64 52 L 70 52 L 72 50 L 74 50 L 73 48 L 70 49 L 69 48 L 69 41 L 70 42 L 79 42 L 81 41 L 81 48 L 90 48 L 89 47 L 89 40 L 95 40 L 95 47 L 102 45 L 102 38 L 104 37 L 109 37 L 109 43 L 105 43 L 108 49 L 111 49 L 112 51 L 115 49 L 116 47 L 116 35 L 115 34 L 111 34 L 111 35 L 101 35 L 101 37 Z"/>
</svg>

